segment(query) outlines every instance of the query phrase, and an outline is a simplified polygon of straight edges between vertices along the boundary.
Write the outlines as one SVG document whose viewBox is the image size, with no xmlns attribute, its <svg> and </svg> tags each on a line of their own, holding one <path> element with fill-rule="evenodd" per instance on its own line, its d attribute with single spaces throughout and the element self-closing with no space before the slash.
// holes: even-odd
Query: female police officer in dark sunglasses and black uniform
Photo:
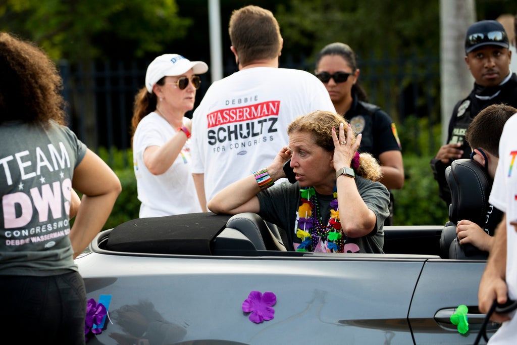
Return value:
<svg viewBox="0 0 517 345">
<path fill-rule="evenodd" d="M 381 163 L 383 177 L 379 182 L 388 189 L 404 186 L 404 166 L 397 128 L 381 108 L 367 103 L 358 83 L 359 69 L 354 51 L 344 43 L 330 43 L 316 56 L 316 77 L 330 95 L 338 114 L 343 115 L 356 134 L 362 134 L 359 152 L 368 152 Z M 393 195 L 390 192 L 392 224 Z"/>
</svg>

